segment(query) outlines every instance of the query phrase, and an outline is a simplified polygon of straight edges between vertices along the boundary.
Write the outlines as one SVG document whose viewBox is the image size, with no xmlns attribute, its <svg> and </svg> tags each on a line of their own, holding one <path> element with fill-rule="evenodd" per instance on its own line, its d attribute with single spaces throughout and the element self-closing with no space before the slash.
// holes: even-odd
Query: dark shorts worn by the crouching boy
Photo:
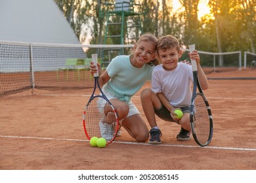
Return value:
<svg viewBox="0 0 256 183">
<path fill-rule="evenodd" d="M 182 112 L 183 113 L 189 113 L 190 112 L 190 107 L 179 107 L 181 108 Z M 167 122 L 175 122 L 177 123 L 177 121 L 173 120 L 173 118 L 171 118 L 171 115 L 170 115 L 170 112 L 169 110 L 164 106 L 164 105 L 161 105 L 161 108 L 159 109 L 154 109 L 155 110 L 155 113 L 156 115 L 161 118 L 162 120 L 165 120 Z"/>
</svg>

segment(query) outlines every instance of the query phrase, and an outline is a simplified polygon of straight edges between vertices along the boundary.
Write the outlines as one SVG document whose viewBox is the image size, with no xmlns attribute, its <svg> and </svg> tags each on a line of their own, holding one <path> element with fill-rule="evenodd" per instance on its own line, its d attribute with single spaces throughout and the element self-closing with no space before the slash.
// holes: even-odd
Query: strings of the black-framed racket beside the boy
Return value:
<svg viewBox="0 0 256 183">
<path fill-rule="evenodd" d="M 209 140 L 209 115 L 202 95 L 197 95 L 194 100 L 194 130 L 199 142 L 205 144 Z"/>
</svg>

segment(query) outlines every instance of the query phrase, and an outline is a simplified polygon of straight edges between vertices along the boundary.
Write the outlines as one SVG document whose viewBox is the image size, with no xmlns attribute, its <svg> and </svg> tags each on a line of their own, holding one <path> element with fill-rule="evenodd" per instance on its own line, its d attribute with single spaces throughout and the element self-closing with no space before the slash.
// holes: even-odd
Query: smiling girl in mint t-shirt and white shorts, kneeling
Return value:
<svg viewBox="0 0 256 183">
<path fill-rule="evenodd" d="M 112 59 L 102 75 L 100 64 L 98 64 L 100 75 L 98 82 L 102 91 L 116 108 L 121 126 L 138 142 L 147 141 L 149 133 L 131 97 L 140 90 L 146 80 L 151 80 L 152 70 L 155 65 L 158 65 L 157 42 L 158 39 L 154 35 L 146 33 L 134 45 L 133 54 Z M 96 71 L 96 65 L 92 62 L 91 73 Z M 100 128 L 102 127 L 104 125 L 100 125 Z"/>
</svg>

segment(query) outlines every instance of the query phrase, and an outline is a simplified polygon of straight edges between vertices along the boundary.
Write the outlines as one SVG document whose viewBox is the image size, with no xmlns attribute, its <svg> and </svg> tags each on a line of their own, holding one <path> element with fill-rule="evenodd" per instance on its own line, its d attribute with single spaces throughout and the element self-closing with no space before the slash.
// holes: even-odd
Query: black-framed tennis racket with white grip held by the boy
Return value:
<svg viewBox="0 0 256 183">
<path fill-rule="evenodd" d="M 190 53 L 195 50 L 195 44 L 189 46 Z M 193 93 L 190 105 L 190 124 L 192 135 L 200 146 L 207 146 L 213 137 L 213 116 L 209 103 L 203 94 L 198 80 L 196 60 L 191 60 L 193 71 Z M 199 92 L 197 92 L 197 89 Z"/>
</svg>

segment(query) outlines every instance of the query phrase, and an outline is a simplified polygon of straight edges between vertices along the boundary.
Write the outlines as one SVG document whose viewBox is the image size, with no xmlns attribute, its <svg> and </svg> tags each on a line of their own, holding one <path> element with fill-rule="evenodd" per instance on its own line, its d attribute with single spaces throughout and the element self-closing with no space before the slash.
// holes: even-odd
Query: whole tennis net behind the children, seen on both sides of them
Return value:
<svg viewBox="0 0 256 183">
<path fill-rule="evenodd" d="M 33 93 L 34 89 L 93 88 L 94 79 L 89 72 L 91 54 L 98 54 L 98 62 L 105 69 L 112 58 L 120 54 L 130 54 L 132 47 L 133 44 L 82 45 L 0 41 L 0 97 L 26 90 L 32 90 Z M 182 54 L 181 60 L 189 60 L 188 50 L 183 51 L 186 54 Z M 198 53 L 200 64 L 209 79 L 256 79 L 255 72 L 241 69 L 240 51 Z"/>
</svg>

